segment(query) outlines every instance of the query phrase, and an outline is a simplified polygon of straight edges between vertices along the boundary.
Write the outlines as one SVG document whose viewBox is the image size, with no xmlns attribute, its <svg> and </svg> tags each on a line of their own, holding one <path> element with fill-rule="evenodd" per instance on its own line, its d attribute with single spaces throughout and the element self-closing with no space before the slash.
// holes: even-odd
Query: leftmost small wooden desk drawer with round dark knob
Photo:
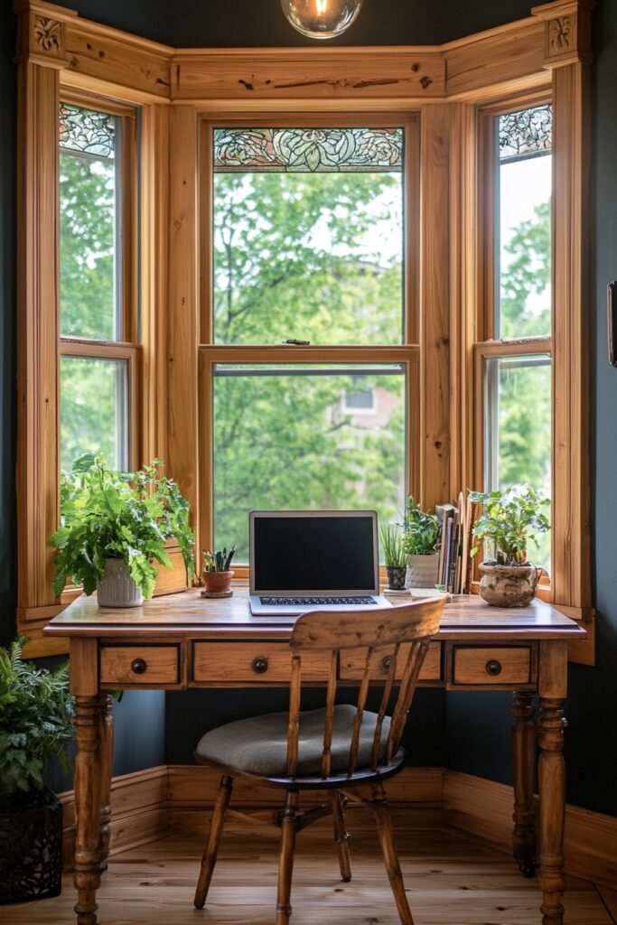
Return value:
<svg viewBox="0 0 617 925">
<path fill-rule="evenodd" d="M 178 646 L 102 646 L 101 684 L 177 685 Z"/>
</svg>

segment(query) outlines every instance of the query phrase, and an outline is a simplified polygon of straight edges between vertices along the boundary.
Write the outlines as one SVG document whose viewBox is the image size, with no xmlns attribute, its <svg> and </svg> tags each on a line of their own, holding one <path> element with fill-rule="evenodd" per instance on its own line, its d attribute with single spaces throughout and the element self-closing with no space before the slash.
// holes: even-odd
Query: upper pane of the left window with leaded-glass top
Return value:
<svg viewBox="0 0 617 925">
<path fill-rule="evenodd" d="M 121 119 L 60 104 L 60 333 L 121 339 Z"/>
</svg>

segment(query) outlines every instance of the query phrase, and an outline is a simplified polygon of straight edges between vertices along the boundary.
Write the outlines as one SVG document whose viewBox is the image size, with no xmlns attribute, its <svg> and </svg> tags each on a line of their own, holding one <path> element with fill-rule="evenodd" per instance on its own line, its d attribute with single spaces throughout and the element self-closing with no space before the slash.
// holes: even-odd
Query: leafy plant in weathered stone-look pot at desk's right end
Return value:
<svg viewBox="0 0 617 925">
<path fill-rule="evenodd" d="M 540 498 L 528 485 L 505 491 L 470 491 L 469 498 L 482 504 L 482 514 L 474 524 L 475 556 L 482 544 L 489 556 L 479 565 L 480 596 L 500 607 L 525 607 L 536 594 L 542 566 L 527 561 L 527 543 L 537 545 L 536 534 L 549 529 L 549 519 L 541 508 L 549 499 Z"/>
</svg>

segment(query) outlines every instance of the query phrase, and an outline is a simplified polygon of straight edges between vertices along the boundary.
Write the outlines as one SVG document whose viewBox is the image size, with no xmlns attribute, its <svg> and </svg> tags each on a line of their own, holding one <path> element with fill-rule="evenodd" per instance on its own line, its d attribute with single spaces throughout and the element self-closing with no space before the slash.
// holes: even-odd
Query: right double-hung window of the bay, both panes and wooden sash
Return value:
<svg viewBox="0 0 617 925">
<path fill-rule="evenodd" d="M 476 343 L 484 409 L 478 484 L 486 490 L 529 484 L 545 498 L 551 494 L 552 122 L 544 102 L 488 111 L 480 120 L 488 259 Z M 549 570 L 549 533 L 529 555 Z"/>
</svg>

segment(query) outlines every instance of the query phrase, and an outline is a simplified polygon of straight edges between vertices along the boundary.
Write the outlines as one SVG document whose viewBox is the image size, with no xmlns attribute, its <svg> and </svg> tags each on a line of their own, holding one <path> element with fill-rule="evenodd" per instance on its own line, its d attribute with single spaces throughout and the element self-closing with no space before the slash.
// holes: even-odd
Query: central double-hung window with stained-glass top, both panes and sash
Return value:
<svg viewBox="0 0 617 925">
<path fill-rule="evenodd" d="M 415 124 L 206 124 L 203 143 L 206 531 L 246 562 L 253 509 L 400 519 L 418 413 Z"/>
</svg>

